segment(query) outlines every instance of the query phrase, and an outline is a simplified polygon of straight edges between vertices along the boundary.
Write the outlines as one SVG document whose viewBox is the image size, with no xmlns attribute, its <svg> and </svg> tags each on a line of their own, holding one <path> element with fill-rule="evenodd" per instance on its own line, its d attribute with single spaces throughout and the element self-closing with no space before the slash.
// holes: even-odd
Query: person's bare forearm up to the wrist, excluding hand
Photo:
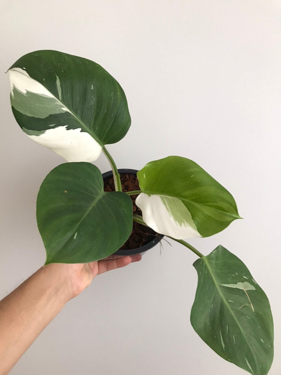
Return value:
<svg viewBox="0 0 281 375">
<path fill-rule="evenodd" d="M 73 297 L 69 275 L 51 264 L 40 268 L 0 301 L 0 374 L 7 374 Z"/>
</svg>

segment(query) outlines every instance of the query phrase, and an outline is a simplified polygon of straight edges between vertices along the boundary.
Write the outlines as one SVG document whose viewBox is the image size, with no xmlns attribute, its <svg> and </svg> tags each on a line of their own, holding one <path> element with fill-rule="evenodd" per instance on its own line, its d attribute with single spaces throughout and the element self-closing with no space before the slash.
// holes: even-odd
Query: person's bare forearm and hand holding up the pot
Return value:
<svg viewBox="0 0 281 375">
<path fill-rule="evenodd" d="M 6 375 L 72 298 L 103 272 L 141 260 L 111 255 L 86 264 L 48 264 L 0 301 L 0 375 Z"/>
</svg>

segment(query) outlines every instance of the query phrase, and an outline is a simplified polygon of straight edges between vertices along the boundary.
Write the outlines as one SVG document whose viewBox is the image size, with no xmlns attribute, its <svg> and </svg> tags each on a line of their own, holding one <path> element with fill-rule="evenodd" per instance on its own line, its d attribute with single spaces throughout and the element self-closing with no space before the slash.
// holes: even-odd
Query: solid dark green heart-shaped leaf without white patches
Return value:
<svg viewBox="0 0 281 375">
<path fill-rule="evenodd" d="M 113 254 L 133 228 L 132 199 L 104 192 L 91 163 L 64 163 L 42 182 L 37 224 L 49 263 L 88 263 Z"/>
</svg>

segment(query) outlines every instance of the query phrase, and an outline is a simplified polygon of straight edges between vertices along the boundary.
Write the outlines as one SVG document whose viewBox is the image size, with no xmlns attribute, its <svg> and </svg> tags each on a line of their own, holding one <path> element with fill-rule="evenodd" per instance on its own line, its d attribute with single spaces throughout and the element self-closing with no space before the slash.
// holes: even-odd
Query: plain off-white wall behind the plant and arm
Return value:
<svg viewBox="0 0 281 375">
<path fill-rule="evenodd" d="M 244 220 L 190 243 L 221 244 L 265 290 L 280 359 L 280 1 L 1 0 L 3 297 L 45 261 L 35 218 L 43 178 L 64 160 L 13 118 L 4 72 L 37 49 L 90 58 L 123 87 L 132 126 L 108 149 L 118 168 L 168 155 L 193 159 L 236 199 Z M 104 156 L 96 165 L 109 170 Z M 279 176 L 279 177 L 278 177 Z M 12 375 L 239 375 L 193 331 L 196 256 L 171 241 L 103 274 L 71 300 Z"/>
</svg>

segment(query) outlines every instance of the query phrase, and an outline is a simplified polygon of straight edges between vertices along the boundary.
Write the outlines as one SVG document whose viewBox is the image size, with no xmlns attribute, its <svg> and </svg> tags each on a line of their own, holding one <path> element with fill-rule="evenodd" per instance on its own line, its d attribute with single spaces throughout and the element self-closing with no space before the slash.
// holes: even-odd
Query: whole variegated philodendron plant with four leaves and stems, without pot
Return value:
<svg viewBox="0 0 281 375">
<path fill-rule="evenodd" d="M 58 51 L 36 51 L 9 69 L 12 111 L 21 129 L 64 157 L 42 182 L 37 223 L 46 263 L 87 263 L 117 251 L 133 221 L 195 252 L 198 286 L 191 324 L 219 356 L 254 375 L 273 359 L 273 321 L 268 298 L 245 264 L 223 246 L 203 256 L 184 239 L 208 237 L 240 219 L 233 196 L 190 159 L 168 156 L 139 172 L 141 190 L 122 191 L 105 145 L 120 141 L 131 124 L 120 84 L 97 63 Z M 115 192 L 103 191 L 101 151 Z M 130 195 L 143 217 L 133 214 Z M 214 371 L 211 371 L 214 374 Z"/>
</svg>

